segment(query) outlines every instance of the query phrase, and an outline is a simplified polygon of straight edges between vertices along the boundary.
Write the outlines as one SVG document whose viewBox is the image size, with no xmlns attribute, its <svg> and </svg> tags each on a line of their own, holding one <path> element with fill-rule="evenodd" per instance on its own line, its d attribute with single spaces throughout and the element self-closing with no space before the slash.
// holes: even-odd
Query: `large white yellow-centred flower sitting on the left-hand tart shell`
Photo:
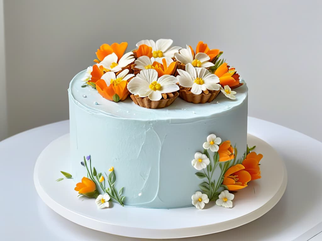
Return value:
<svg viewBox="0 0 322 241">
<path fill-rule="evenodd" d="M 171 75 L 163 75 L 158 78 L 155 69 L 143 69 L 128 83 L 128 91 L 140 97 L 148 97 L 152 101 L 158 101 L 163 93 L 171 93 L 179 90 L 176 85 L 177 78 Z"/>
</svg>

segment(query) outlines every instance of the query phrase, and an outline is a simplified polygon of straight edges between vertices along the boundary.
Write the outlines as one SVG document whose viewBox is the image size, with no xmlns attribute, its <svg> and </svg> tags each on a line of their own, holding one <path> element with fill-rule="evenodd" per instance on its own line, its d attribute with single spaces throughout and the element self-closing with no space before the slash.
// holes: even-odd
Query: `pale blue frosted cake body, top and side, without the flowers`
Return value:
<svg viewBox="0 0 322 241">
<path fill-rule="evenodd" d="M 237 159 L 247 148 L 247 86 L 237 89 L 236 100 L 220 93 L 211 103 L 188 103 L 179 97 L 164 109 L 147 109 L 132 102 L 104 99 L 96 89 L 81 87 L 85 71 L 68 89 L 70 106 L 71 173 L 87 176 L 81 165 L 91 155 L 92 167 L 109 173 L 114 167 L 116 186 L 124 186 L 124 203 L 146 208 L 192 206 L 191 196 L 200 179 L 191 161 L 203 152 L 207 136 L 230 140 Z M 219 175 L 219 172 L 215 172 Z"/>
</svg>

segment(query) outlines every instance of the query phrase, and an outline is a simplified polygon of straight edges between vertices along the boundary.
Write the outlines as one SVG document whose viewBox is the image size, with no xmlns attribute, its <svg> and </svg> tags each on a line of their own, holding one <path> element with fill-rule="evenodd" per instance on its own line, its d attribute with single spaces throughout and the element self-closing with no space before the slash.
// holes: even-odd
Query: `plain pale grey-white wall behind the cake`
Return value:
<svg viewBox="0 0 322 241">
<path fill-rule="evenodd" d="M 102 43 L 172 38 L 223 50 L 249 86 L 250 116 L 322 141 L 321 11 L 321 1 L 4 1 L 8 134 L 68 119 L 68 84 Z"/>
</svg>

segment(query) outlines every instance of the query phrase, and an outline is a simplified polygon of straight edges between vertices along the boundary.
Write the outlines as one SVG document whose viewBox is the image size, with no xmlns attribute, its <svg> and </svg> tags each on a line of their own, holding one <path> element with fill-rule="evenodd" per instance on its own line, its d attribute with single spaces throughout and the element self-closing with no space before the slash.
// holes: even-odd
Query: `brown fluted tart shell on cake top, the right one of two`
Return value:
<svg viewBox="0 0 322 241">
<path fill-rule="evenodd" d="M 180 98 L 185 100 L 186 102 L 191 102 L 194 104 L 204 104 L 206 102 L 212 102 L 220 92 L 220 90 L 205 90 L 201 94 L 193 94 L 191 92 L 191 88 L 185 88 L 180 85 L 179 87 Z"/>
</svg>

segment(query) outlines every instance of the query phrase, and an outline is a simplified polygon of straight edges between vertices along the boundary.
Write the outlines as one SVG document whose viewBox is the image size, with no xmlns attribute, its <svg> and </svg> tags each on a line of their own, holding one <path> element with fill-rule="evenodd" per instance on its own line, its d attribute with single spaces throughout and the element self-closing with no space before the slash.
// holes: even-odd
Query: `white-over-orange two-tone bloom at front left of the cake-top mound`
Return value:
<svg viewBox="0 0 322 241">
<path fill-rule="evenodd" d="M 124 69 L 117 76 L 115 76 L 114 72 L 106 72 L 96 82 L 96 89 L 99 94 L 110 101 L 125 100 L 129 94 L 127 89 L 128 79 L 134 76 L 133 74 L 128 74 L 128 72 L 128 69 Z M 118 95 L 118 99 L 115 99 L 115 95 Z"/>
</svg>

